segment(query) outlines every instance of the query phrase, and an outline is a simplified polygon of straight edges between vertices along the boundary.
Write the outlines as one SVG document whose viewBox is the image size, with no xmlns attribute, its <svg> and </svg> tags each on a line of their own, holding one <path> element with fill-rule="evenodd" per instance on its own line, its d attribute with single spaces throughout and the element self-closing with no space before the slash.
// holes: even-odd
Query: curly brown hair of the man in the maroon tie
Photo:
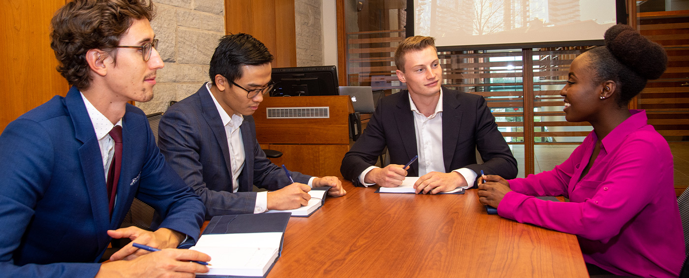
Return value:
<svg viewBox="0 0 689 278">
<path fill-rule="evenodd" d="M 115 61 L 116 46 L 132 19 L 154 17 L 153 2 L 145 0 L 74 0 L 55 12 L 50 47 L 60 65 L 57 71 L 70 85 L 88 89 L 92 76 L 86 52 L 100 49 Z"/>
</svg>

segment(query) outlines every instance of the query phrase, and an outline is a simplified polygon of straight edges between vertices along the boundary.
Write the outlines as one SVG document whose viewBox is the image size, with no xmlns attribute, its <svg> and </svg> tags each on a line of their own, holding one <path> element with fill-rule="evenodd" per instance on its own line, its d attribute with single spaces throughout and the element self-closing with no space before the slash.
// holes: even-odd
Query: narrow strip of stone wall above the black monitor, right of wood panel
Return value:
<svg viewBox="0 0 689 278">
<path fill-rule="evenodd" d="M 323 65 L 321 0 L 295 0 L 297 66 Z M 336 20 L 336 19 L 328 19 Z"/>
</svg>

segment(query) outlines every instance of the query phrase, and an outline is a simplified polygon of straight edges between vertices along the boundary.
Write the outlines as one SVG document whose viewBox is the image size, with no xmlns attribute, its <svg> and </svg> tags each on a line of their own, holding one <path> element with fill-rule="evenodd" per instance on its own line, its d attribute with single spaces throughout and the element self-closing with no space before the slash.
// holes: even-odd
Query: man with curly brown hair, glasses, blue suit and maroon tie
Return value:
<svg viewBox="0 0 689 278">
<path fill-rule="evenodd" d="M 6 277 L 192 277 L 203 203 L 156 147 L 141 109 L 163 61 L 151 3 L 74 0 L 52 19 L 51 47 L 72 88 L 0 136 L 0 272 Z M 119 228 L 134 197 L 164 218 Z M 113 238 L 129 244 L 98 264 Z"/>
</svg>

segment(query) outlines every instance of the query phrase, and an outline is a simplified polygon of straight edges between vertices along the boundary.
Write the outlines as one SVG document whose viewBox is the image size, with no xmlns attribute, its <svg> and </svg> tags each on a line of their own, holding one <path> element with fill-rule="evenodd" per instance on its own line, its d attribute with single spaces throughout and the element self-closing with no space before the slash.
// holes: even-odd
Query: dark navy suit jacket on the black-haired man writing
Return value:
<svg viewBox="0 0 689 278">
<path fill-rule="evenodd" d="M 278 190 L 289 185 L 285 171 L 265 157 L 256 141 L 254 118 L 240 125 L 244 142 L 244 169 L 237 193 L 232 193 L 232 169 L 223 120 L 206 85 L 167 109 L 158 125 L 158 145 L 172 169 L 194 188 L 206 205 L 206 219 L 216 215 L 254 213 L 252 185 Z M 295 182 L 306 184 L 309 175 L 291 172 Z"/>
</svg>

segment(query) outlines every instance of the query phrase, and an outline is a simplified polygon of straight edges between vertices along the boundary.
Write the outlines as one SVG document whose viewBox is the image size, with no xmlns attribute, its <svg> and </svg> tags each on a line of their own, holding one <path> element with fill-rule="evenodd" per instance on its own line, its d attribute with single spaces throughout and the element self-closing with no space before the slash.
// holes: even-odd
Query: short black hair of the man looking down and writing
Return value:
<svg viewBox="0 0 689 278">
<path fill-rule="evenodd" d="M 250 34 L 229 34 L 223 36 L 211 58 L 208 74 L 215 85 L 215 76 L 220 74 L 228 81 L 242 78 L 241 67 L 264 65 L 273 61 L 273 55 L 263 43 Z"/>
</svg>

